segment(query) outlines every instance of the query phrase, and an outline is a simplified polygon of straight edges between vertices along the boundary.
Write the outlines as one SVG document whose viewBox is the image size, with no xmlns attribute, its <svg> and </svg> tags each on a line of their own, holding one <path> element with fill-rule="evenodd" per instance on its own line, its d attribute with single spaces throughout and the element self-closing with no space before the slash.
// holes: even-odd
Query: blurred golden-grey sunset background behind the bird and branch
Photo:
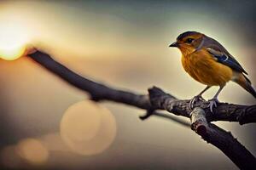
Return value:
<svg viewBox="0 0 256 170">
<path fill-rule="evenodd" d="M 1 1 L 0 32 L 22 34 L 92 80 L 139 94 L 156 85 L 191 99 L 204 85 L 183 71 L 180 52 L 168 45 L 183 31 L 201 31 L 221 42 L 256 84 L 255 8 L 253 0 Z M 94 104 L 32 59 L 0 59 L 0 68 L 1 169 L 237 168 L 189 127 L 160 117 L 142 122 L 145 111 L 131 106 Z M 256 103 L 233 82 L 219 99 Z M 255 124 L 215 123 L 256 155 Z"/>
</svg>

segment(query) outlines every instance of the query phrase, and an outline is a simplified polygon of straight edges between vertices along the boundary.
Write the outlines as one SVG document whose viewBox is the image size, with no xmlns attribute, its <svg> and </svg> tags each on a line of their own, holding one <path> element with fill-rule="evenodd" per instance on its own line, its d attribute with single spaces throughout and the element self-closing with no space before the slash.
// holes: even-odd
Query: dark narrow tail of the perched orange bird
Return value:
<svg viewBox="0 0 256 170">
<path fill-rule="evenodd" d="M 256 92 L 253 89 L 251 81 L 242 73 L 239 73 L 234 82 L 238 83 L 242 88 L 244 88 L 248 93 L 252 94 L 256 98 Z"/>
</svg>

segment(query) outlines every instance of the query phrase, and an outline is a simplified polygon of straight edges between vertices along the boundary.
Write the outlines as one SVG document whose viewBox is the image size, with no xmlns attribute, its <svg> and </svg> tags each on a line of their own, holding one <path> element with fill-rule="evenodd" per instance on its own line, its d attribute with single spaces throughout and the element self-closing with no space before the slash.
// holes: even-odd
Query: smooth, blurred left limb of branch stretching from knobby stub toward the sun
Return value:
<svg viewBox="0 0 256 170">
<path fill-rule="evenodd" d="M 76 88 L 79 88 L 90 94 L 90 98 L 96 101 L 110 100 L 126 105 L 133 105 L 141 109 L 149 110 L 151 105 L 148 95 L 138 95 L 131 92 L 109 88 L 101 83 L 90 81 L 79 74 L 69 70 L 64 65 L 56 62 L 48 54 L 36 51 L 29 55 L 38 64 L 44 66 L 48 71 L 61 77 L 62 80 L 68 82 Z"/>
</svg>

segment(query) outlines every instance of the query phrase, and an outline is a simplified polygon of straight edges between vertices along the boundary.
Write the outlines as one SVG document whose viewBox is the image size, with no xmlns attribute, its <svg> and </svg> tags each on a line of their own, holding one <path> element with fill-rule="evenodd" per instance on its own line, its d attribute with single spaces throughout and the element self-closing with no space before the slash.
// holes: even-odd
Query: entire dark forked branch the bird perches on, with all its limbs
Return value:
<svg viewBox="0 0 256 170">
<path fill-rule="evenodd" d="M 221 103 L 214 110 L 214 114 L 212 114 L 208 109 L 208 102 L 200 101 L 195 105 L 200 109 L 191 112 L 189 109 L 189 100 L 176 99 L 171 94 L 166 94 L 160 88 L 154 87 L 148 89 L 149 95 L 133 94 L 127 91 L 109 88 L 101 83 L 81 77 L 64 65 L 56 62 L 48 54 L 36 51 L 33 54 L 29 54 L 28 57 L 36 61 L 39 65 L 44 66 L 56 76 L 61 77 L 62 80 L 89 93 L 93 100 L 109 100 L 146 110 L 147 114 L 142 116 L 142 119 L 155 115 L 178 122 L 177 119 L 156 113 L 155 110 L 166 110 L 177 116 L 189 118 L 191 116 L 192 129 L 196 133 L 199 133 L 207 142 L 222 150 L 237 167 L 249 168 L 249 165 L 256 166 L 255 157 L 234 139 L 230 133 L 225 132 L 216 125 L 208 123 L 212 121 L 230 121 L 239 122 L 240 124 L 256 122 L 256 105 L 247 106 Z M 188 125 L 186 122 L 182 123 L 185 126 Z"/>
</svg>

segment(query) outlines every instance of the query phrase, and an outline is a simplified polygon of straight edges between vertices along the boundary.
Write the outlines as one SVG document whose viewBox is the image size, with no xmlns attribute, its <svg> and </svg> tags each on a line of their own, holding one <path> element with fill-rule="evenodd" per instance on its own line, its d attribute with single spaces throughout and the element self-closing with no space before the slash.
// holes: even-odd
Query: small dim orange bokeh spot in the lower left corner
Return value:
<svg viewBox="0 0 256 170">
<path fill-rule="evenodd" d="M 41 165 L 48 160 L 49 152 L 38 139 L 23 139 L 16 146 L 18 155 L 32 165 Z"/>
</svg>

